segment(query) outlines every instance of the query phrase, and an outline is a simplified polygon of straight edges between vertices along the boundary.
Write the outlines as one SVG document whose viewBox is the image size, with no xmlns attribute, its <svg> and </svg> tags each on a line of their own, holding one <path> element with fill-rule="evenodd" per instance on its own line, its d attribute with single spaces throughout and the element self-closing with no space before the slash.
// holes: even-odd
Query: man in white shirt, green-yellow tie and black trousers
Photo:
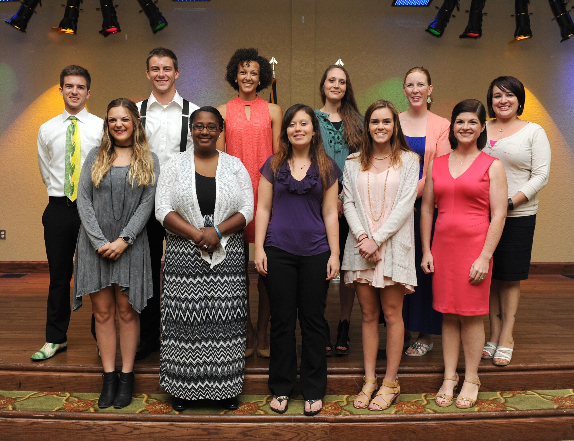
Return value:
<svg viewBox="0 0 574 441">
<path fill-rule="evenodd" d="M 42 215 L 44 242 L 50 269 L 46 343 L 32 361 L 42 361 L 67 349 L 70 320 L 70 281 L 73 254 L 80 229 L 76 197 L 80 169 L 88 152 L 102 141 L 103 119 L 88 113 L 90 73 L 76 65 L 60 73 L 64 112 L 38 130 L 38 166 L 48 190 L 48 206 Z"/>
</svg>

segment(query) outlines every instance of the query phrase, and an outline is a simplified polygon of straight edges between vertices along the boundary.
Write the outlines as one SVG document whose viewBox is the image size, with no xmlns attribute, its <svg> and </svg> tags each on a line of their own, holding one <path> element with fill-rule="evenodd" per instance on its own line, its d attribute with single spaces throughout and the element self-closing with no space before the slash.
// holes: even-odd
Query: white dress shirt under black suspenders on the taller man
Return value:
<svg viewBox="0 0 574 441">
<path fill-rule="evenodd" d="M 137 103 L 141 111 L 142 102 Z M 189 115 L 199 109 L 189 102 Z M 176 91 L 171 102 L 164 106 L 160 104 L 152 94 L 148 98 L 148 106 L 145 115 L 145 131 L 153 153 L 160 158 L 160 168 L 164 168 L 170 158 L 180 152 L 181 141 L 181 113 L 183 111 L 183 98 Z M 187 149 L 193 148 L 191 132 L 187 128 Z"/>
</svg>

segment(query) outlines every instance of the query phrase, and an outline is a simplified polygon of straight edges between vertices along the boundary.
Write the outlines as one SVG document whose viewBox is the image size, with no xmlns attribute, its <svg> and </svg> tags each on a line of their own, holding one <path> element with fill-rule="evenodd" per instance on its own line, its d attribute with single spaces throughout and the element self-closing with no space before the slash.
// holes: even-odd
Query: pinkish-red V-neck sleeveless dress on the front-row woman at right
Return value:
<svg viewBox="0 0 574 441">
<path fill-rule="evenodd" d="M 454 179 L 448 169 L 450 154 L 435 158 L 432 179 L 439 216 L 432 242 L 435 261 L 433 308 L 444 314 L 488 314 L 492 259 L 478 285 L 468 281 L 480 256 L 490 226 L 490 177 L 496 158 L 480 152 L 468 169 Z"/>
</svg>

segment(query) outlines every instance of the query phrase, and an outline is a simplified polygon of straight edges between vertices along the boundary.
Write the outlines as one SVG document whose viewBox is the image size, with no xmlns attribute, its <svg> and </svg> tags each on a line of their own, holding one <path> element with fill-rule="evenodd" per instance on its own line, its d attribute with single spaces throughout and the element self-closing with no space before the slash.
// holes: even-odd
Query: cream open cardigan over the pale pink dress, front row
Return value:
<svg viewBox="0 0 574 441">
<path fill-rule="evenodd" d="M 385 241 L 385 277 L 397 283 L 417 285 L 416 262 L 414 261 L 414 201 L 417 198 L 418 173 L 420 171 L 418 155 L 413 152 L 401 154 L 401 181 L 389 218 L 373 234 L 377 245 Z M 359 153 L 350 154 L 345 161 L 343 172 L 343 210 L 349 224 L 349 234 L 345 245 L 341 269 L 356 271 L 374 268 L 375 262 L 369 262 L 355 248 L 362 234 L 371 238 L 369 225 L 361 203 L 357 177 L 360 172 Z M 390 245 L 390 246 L 389 246 Z"/>
</svg>

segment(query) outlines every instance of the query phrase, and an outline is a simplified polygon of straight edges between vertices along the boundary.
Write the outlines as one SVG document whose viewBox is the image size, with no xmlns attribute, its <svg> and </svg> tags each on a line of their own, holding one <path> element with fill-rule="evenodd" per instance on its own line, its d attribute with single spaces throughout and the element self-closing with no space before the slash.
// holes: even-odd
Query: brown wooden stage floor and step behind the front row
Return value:
<svg viewBox="0 0 574 441">
<path fill-rule="evenodd" d="M 42 381 L 75 379 L 73 384 L 90 392 L 99 384 L 101 365 L 96 345 L 90 334 L 91 307 L 88 296 L 78 312 L 72 312 L 68 331 L 67 352 L 45 362 L 30 361 L 30 355 L 44 343 L 46 292 L 49 277 L 45 273 L 30 273 L 23 277 L 1 277 L 0 273 L 0 389 L 26 389 L 40 387 Z M 257 284 L 257 274 L 252 272 L 252 296 Z M 331 283 L 328 296 L 327 318 L 335 343 L 339 319 L 339 282 Z M 493 366 L 488 360 L 480 363 L 483 390 L 553 389 L 574 387 L 574 280 L 561 275 L 533 275 L 522 284 L 522 299 L 515 327 L 515 352 L 512 363 L 504 368 Z M 251 316 L 257 317 L 257 301 L 251 304 Z M 485 316 L 488 336 L 488 320 Z M 328 357 L 329 392 L 353 393 L 360 388 L 362 370 L 362 345 L 360 340 L 360 307 L 355 299 L 351 319 L 351 349 L 347 356 Z M 381 348 L 385 347 L 385 328 L 381 326 Z M 382 351 L 381 351 L 382 352 Z M 384 354 L 381 354 L 384 357 Z M 385 371 L 385 360 L 378 361 L 378 372 Z M 142 385 L 157 386 L 159 353 L 137 361 L 135 371 Z M 442 346 L 435 339 L 434 349 L 424 357 L 403 355 L 399 376 L 403 378 L 404 392 L 433 392 L 442 377 Z M 246 385 L 244 392 L 266 393 L 268 359 L 257 355 L 246 360 Z M 463 355 L 459 359 L 459 372 L 463 370 Z M 119 366 L 119 350 L 118 350 Z M 20 372 L 18 375 L 17 372 Z M 50 373 L 58 373 L 56 377 Z M 10 374 L 9 374 L 10 373 Z M 64 376 L 64 373 L 67 373 Z M 94 379 L 84 382 L 88 377 Z M 22 384 L 24 383 L 24 384 Z M 16 386 L 16 387 L 15 387 Z M 52 387 L 45 384 L 45 387 Z M 54 386 L 58 388 L 58 386 Z M 69 387 L 69 385 L 68 385 Z M 249 389 L 249 390 L 246 390 Z M 349 390 L 343 390 L 350 388 Z M 79 392 L 82 392 L 79 391 Z"/>
</svg>

